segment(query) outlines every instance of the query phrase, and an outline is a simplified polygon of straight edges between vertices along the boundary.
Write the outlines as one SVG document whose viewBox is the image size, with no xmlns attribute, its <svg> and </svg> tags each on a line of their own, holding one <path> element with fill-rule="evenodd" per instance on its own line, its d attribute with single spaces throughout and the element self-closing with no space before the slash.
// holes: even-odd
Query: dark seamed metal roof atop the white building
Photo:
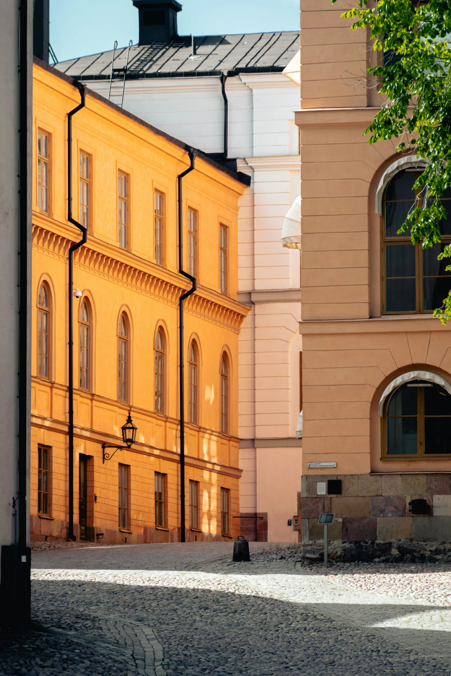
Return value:
<svg viewBox="0 0 451 676">
<path fill-rule="evenodd" d="M 233 76 L 246 72 L 281 72 L 300 48 L 299 31 L 176 37 L 169 43 L 130 48 L 127 78 Z M 114 69 L 125 68 L 127 47 L 116 49 Z M 113 50 L 56 64 L 77 80 L 110 78 Z"/>
</svg>

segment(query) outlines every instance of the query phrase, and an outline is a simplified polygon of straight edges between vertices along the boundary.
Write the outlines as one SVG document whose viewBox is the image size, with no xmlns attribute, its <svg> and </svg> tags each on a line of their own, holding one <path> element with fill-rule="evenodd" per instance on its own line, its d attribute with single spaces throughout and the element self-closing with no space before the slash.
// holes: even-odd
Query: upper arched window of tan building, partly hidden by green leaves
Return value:
<svg viewBox="0 0 451 676">
<path fill-rule="evenodd" d="M 440 308 L 451 289 L 449 261 L 437 260 L 438 254 L 451 242 L 451 189 L 442 197 L 447 218 L 440 221 L 442 242 L 430 249 L 412 245 L 410 231 L 397 232 L 415 203 L 421 203 L 421 193 L 413 190 L 419 173 L 404 169 L 391 178 L 385 189 L 383 203 L 383 313 L 432 312 Z"/>
</svg>

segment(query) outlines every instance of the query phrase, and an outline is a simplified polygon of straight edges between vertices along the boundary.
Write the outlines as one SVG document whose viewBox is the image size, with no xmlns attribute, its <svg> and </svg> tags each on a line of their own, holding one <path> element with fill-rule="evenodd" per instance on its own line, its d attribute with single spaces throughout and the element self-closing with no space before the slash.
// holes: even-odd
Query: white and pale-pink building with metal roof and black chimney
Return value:
<svg viewBox="0 0 451 676">
<path fill-rule="evenodd" d="M 181 5 L 155 3 L 134 0 L 139 45 L 56 68 L 250 176 L 239 211 L 239 299 L 252 307 L 240 334 L 241 529 L 256 539 L 258 523 L 258 539 L 297 541 L 287 521 L 298 514 L 301 477 L 300 252 L 280 241 L 300 195 L 300 89 L 283 74 L 299 32 L 180 37 Z"/>
</svg>

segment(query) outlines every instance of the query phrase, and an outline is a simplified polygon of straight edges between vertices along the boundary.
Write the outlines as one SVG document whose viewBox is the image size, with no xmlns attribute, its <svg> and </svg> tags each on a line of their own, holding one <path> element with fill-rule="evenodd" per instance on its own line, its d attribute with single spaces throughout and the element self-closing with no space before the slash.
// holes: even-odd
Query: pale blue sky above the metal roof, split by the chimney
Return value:
<svg viewBox="0 0 451 676">
<path fill-rule="evenodd" d="M 299 0 L 179 0 L 180 35 L 299 30 Z M 138 41 L 132 0 L 50 0 L 50 43 L 58 61 Z"/>
</svg>

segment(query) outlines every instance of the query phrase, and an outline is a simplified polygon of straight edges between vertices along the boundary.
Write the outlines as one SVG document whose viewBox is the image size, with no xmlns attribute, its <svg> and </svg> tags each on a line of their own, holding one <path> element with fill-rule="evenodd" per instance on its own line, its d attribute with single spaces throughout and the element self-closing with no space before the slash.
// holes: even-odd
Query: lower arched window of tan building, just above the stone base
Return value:
<svg viewBox="0 0 451 676">
<path fill-rule="evenodd" d="M 394 389 L 385 402 L 383 456 L 451 455 L 451 395 L 436 383 L 414 381 Z"/>
</svg>

